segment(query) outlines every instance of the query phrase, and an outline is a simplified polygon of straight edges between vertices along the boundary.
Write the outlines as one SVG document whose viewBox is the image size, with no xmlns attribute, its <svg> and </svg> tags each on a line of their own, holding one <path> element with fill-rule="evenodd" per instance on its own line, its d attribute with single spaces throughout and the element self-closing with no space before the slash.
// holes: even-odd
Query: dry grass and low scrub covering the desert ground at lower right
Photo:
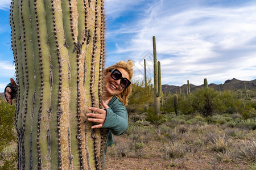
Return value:
<svg viewBox="0 0 256 170">
<path fill-rule="evenodd" d="M 255 130 L 230 128 L 225 124 L 185 124 L 184 121 L 183 117 L 176 117 L 159 126 L 130 124 L 127 133 L 114 136 L 115 144 L 108 148 L 106 164 L 108 167 L 121 164 L 109 169 L 154 169 L 153 164 L 157 169 L 256 167 Z"/>
</svg>

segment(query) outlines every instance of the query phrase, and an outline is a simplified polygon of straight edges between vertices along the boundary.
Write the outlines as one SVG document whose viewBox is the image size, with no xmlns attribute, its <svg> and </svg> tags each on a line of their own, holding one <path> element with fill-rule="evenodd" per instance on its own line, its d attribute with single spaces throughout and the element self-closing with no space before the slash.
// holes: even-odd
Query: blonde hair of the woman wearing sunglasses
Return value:
<svg viewBox="0 0 256 170">
<path fill-rule="evenodd" d="M 106 69 L 104 69 L 103 74 L 106 75 L 109 73 L 109 70 L 121 68 L 121 69 L 124 69 L 127 71 L 127 73 L 129 74 L 130 80 L 131 80 L 131 78 L 133 78 L 133 66 L 134 66 L 134 63 L 130 59 L 126 62 L 119 61 L 119 62 L 115 63 L 114 65 L 109 66 Z M 127 87 L 126 89 L 124 89 L 120 94 L 115 95 L 115 97 L 117 97 L 124 105 L 127 105 L 128 97 L 130 94 L 131 94 L 131 85 L 129 87 Z"/>
</svg>

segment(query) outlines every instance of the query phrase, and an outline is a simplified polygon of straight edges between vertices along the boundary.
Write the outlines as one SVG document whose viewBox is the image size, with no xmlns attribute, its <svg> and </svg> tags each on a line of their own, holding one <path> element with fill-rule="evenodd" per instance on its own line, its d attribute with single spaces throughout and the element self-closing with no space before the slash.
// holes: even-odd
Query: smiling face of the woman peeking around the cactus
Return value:
<svg viewBox="0 0 256 170">
<path fill-rule="evenodd" d="M 122 73 L 123 78 L 127 78 L 130 80 L 130 76 L 125 69 L 122 69 L 122 68 L 117 68 L 117 69 Z M 106 80 L 106 93 L 109 96 L 118 95 L 124 90 L 124 88 L 122 88 L 121 84 L 120 84 L 121 79 L 114 80 L 111 76 L 111 72 L 109 72 L 105 78 L 106 78 L 105 79 Z"/>
</svg>

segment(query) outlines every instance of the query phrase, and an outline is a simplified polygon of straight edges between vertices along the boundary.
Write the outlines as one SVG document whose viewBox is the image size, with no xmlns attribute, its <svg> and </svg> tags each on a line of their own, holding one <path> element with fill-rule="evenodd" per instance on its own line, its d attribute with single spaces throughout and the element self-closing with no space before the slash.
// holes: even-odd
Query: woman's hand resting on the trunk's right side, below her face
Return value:
<svg viewBox="0 0 256 170">
<path fill-rule="evenodd" d="M 109 108 L 108 105 L 106 105 L 103 100 L 101 101 L 101 104 L 105 109 Z M 98 123 L 98 125 L 92 126 L 92 129 L 101 128 L 106 120 L 106 111 L 104 109 L 99 109 L 99 108 L 88 108 L 88 109 L 90 111 L 97 112 L 97 113 L 86 114 L 86 116 L 88 117 L 94 117 L 94 118 L 88 118 L 88 121 Z"/>
</svg>

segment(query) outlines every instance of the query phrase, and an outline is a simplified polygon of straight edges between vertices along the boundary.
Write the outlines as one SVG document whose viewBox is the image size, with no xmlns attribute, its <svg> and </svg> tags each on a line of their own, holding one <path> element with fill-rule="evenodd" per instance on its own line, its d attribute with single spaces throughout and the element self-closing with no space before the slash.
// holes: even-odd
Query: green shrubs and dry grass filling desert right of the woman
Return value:
<svg viewBox="0 0 256 170">
<path fill-rule="evenodd" d="M 240 90 L 207 86 L 190 96 L 165 93 L 161 113 L 155 115 L 152 91 L 145 94 L 143 87 L 143 80 L 133 84 L 129 129 L 114 137 L 106 169 L 256 168 L 255 90 L 250 90 L 250 98 Z M 144 103 L 136 102 L 140 99 Z"/>
</svg>

